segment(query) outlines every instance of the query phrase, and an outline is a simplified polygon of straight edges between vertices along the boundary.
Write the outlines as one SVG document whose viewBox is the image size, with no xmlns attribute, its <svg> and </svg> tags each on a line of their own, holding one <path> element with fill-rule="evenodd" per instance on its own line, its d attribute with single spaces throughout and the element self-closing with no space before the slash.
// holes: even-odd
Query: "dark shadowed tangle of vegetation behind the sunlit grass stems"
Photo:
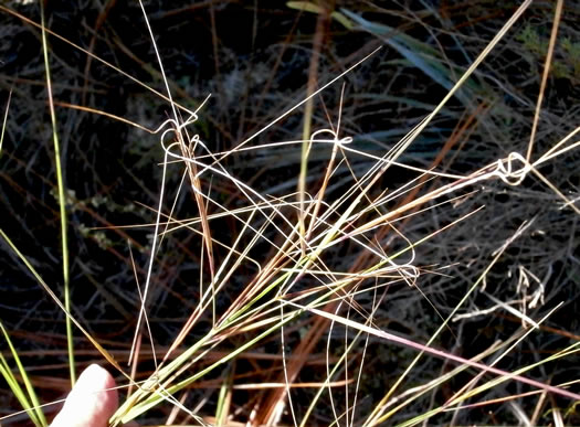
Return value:
<svg viewBox="0 0 580 427">
<path fill-rule="evenodd" d="M 344 8 L 393 30 L 381 39 L 360 29 L 349 30 L 334 20 L 324 24 L 319 85 L 376 47 L 384 46 L 315 98 L 313 127 L 328 127 L 328 117 L 336 122 L 341 108 L 342 134 L 354 137 L 358 149 L 376 156 L 384 154 L 436 106 L 449 89 L 402 57 L 397 50 L 386 45 L 384 40 L 407 34 L 434 49 L 437 60 L 446 66 L 449 81 L 455 82 L 518 6 L 515 1 L 487 0 L 337 0 L 333 3 L 330 7 L 336 10 Z M 4 1 L 1 4 L 40 22 L 36 3 L 24 6 Z M 145 1 L 145 8 L 176 100 L 194 109 L 211 94 L 193 129 L 212 151 L 235 147 L 304 98 L 316 14 L 291 9 L 284 1 L 257 0 Z M 552 2 L 535 2 L 470 79 L 463 98 L 451 99 L 400 160 L 425 169 L 436 166 L 449 172 L 467 173 L 512 151 L 525 153 L 552 17 Z M 50 30 L 165 93 L 138 2 L 49 1 L 46 18 Z M 545 152 L 578 126 L 578 2 L 566 2 L 552 73 L 545 94 L 536 153 Z M 0 39 L 2 113 L 12 90 L 0 153 L 0 225 L 44 280 L 60 293 L 60 217 L 40 29 L 2 10 Z M 168 103 L 148 89 L 98 61 L 89 60 L 85 53 L 54 36 L 49 36 L 49 43 L 56 102 L 106 111 L 148 128 L 157 128 L 171 117 Z M 340 105 L 342 83 L 345 96 Z M 150 224 L 155 220 L 162 150 L 158 136 L 109 117 L 66 108 L 62 104 L 57 104 L 56 111 L 68 191 L 73 312 L 103 345 L 125 362 L 139 309 L 128 242 L 138 266 L 137 274 L 143 279 L 152 228 L 118 226 Z M 300 111 L 276 122 L 253 143 L 299 139 Z M 444 148 L 446 151 L 442 151 Z M 434 163 L 441 152 L 442 160 Z M 224 166 L 262 194 L 282 196 L 296 189 L 299 156 L 299 146 L 264 148 L 231 156 Z M 314 150 L 310 154 L 309 182 L 313 188 L 323 177 L 327 157 L 326 149 Z M 578 151 L 572 151 L 541 169 L 551 183 L 570 199 L 578 199 Z M 361 175 L 372 163 L 368 158 L 360 157 L 352 158 L 350 166 Z M 414 177 L 393 168 L 381 179 L 375 195 L 384 190 L 392 191 Z M 177 193 L 180 179 L 177 172 L 167 177 L 169 194 Z M 244 204 L 240 192 L 225 180 L 211 182 L 208 179 L 203 185 L 204 191 L 230 209 Z M 333 191 L 340 194 L 352 182 L 345 180 L 341 185 L 335 185 L 330 194 Z M 562 209 L 561 200 L 534 179 L 526 180 L 518 188 L 498 181 L 471 190 L 477 192 L 456 209 L 446 205 L 418 214 L 401 222 L 399 231 L 413 242 L 462 213 L 486 206 L 465 223 L 416 248 L 414 263 L 428 271 L 418 286 L 440 313 L 446 316 L 489 263 L 492 253 L 513 236 L 524 221 L 535 218 L 528 232 L 492 270 L 486 291 L 520 310 L 527 310 L 534 319 L 541 318 L 560 301 L 565 305 L 546 321 L 546 329 L 531 334 L 500 363 L 502 369 L 512 371 L 579 339 L 578 216 Z M 183 193 L 186 196 L 179 199 L 177 206 L 179 216 L 198 215 L 193 194 L 187 190 Z M 392 205 L 399 202 L 393 201 Z M 214 233 L 217 238 L 233 241 L 236 232 L 224 220 Z M 160 353 L 175 339 L 199 297 L 200 243 L 200 237 L 189 231 L 172 233 L 158 254 L 149 318 Z M 386 245 L 386 250 L 396 250 L 403 245 L 405 242 L 393 238 Z M 6 245 L 1 247 L 0 320 L 20 349 L 41 398 L 45 402 L 59 398 L 68 387 L 64 316 L 14 254 Z M 355 250 L 344 247 L 336 254 L 334 263 L 337 269 L 348 270 L 349 263 L 358 256 L 350 249 Z M 261 259 L 271 256 L 266 245 L 259 246 L 256 250 L 263 252 Z M 218 265 L 220 256 L 223 254 L 218 250 Z M 260 254 L 255 256 L 260 258 Z M 255 274 L 250 267 L 243 273 L 232 278 L 231 287 L 219 301 L 219 310 L 226 308 L 231 298 Z M 527 289 L 518 287 L 518 280 L 525 277 L 529 279 Z M 542 303 L 528 307 L 529 296 L 538 292 L 540 287 L 545 288 Z M 463 312 L 494 305 L 479 292 Z M 389 290 L 377 319 L 378 327 L 419 342 L 425 342 L 441 323 L 425 297 L 407 286 Z M 294 329 L 289 328 L 288 349 L 310 325 L 312 319 L 305 319 Z M 519 325 L 518 319 L 497 309 L 486 316 L 474 316 L 453 323 L 453 333 L 444 333 L 436 346 L 470 357 L 487 349 L 495 340 L 509 337 Z M 186 343 L 194 342 L 196 335 L 203 332 L 194 330 Z M 325 378 L 327 337 L 324 338 L 298 381 Z M 232 338 L 230 349 L 245 339 L 243 335 Z M 342 349 L 340 338 L 337 338 L 336 345 L 339 353 Z M 76 337 L 76 349 L 80 369 L 99 361 L 97 352 L 80 334 Z M 221 350 L 228 351 L 226 348 Z M 273 337 L 254 351 L 280 354 L 280 338 Z M 409 349 L 370 341 L 365 381 L 359 392 L 361 415 L 367 414 L 382 397 L 412 355 L 414 352 Z M 570 356 L 546 364 L 532 371 L 530 376 L 551 384 L 577 378 L 578 362 L 577 356 Z M 150 365 L 146 356 L 143 371 L 147 372 L 147 369 Z M 246 375 L 234 380 L 238 383 L 270 382 L 278 377 L 281 362 L 264 361 L 250 354 L 241 357 L 231 369 L 239 375 Z M 426 383 L 449 369 L 443 361 L 423 357 L 405 386 Z M 192 407 L 207 398 L 200 414 L 212 414 L 219 380 L 205 378 L 198 389 L 192 391 Z M 401 412 L 394 420 L 407 419 L 428 410 L 430 405 L 442 404 L 463 385 L 461 381 L 461 377 L 456 378 L 456 383 L 449 384 L 449 388 L 431 396 L 433 402 L 428 398 Z M 494 388 L 485 398 L 524 391 L 526 387 L 521 384 L 506 383 Z M 294 403 L 298 414 L 314 393 L 305 389 L 296 395 Z M 259 405 L 265 394 L 265 391 L 235 392 L 234 407 L 239 409 L 235 419 L 245 421 L 252 407 Z M 336 398 L 340 399 L 340 392 L 336 392 Z M 521 398 L 518 404 L 530 414 L 537 398 Z M 568 404 L 556 398 L 544 410 L 550 405 L 567 407 Z M 14 412 L 17 407 L 15 399 L 3 386 L 0 387 L 0 416 Z M 148 419 L 162 419 L 164 412 L 169 409 L 156 409 L 148 415 Z M 495 410 L 495 415 L 491 415 L 491 410 Z M 313 424 L 326 425 L 331 419 L 329 408 L 320 405 Z M 548 413 L 540 418 L 541 423 L 550 419 Z M 289 420 L 288 415 L 283 419 L 285 423 Z M 567 420 L 574 423 L 579 418 L 571 413 Z M 434 424 L 449 421 L 449 416 L 433 419 Z M 465 410 L 456 421 L 518 424 L 509 404 Z"/>
</svg>

